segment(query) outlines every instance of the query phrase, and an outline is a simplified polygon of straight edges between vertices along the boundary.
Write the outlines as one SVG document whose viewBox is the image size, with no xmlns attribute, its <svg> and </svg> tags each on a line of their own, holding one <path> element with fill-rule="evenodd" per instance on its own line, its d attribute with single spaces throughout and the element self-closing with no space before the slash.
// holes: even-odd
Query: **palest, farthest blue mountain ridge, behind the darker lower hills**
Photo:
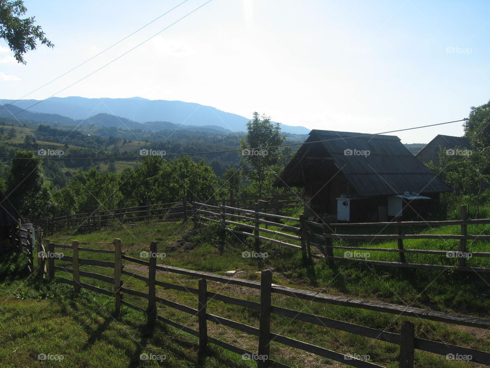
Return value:
<svg viewBox="0 0 490 368">
<path fill-rule="evenodd" d="M 0 100 L 20 108 L 39 100 Z M 11 106 L 9 106 L 10 109 Z M 2 111 L 4 109 L 0 109 Z M 51 97 L 29 108 L 30 112 L 58 114 L 73 120 L 84 120 L 100 113 L 119 116 L 136 123 L 171 122 L 177 125 L 218 126 L 231 131 L 246 131 L 249 118 L 197 103 L 166 100 L 147 100 L 140 97 L 121 99 L 89 99 L 84 97 Z M 0 115 L 2 116 L 2 115 Z M 306 134 L 309 129 L 281 124 L 286 133 Z"/>
</svg>

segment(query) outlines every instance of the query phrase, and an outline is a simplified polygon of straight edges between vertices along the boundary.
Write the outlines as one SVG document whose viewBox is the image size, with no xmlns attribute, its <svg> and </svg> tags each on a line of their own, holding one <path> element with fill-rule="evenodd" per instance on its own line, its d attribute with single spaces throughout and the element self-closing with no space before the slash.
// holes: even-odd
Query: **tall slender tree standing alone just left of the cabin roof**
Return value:
<svg viewBox="0 0 490 368">
<path fill-rule="evenodd" d="M 273 175 L 271 169 L 278 163 L 278 147 L 285 136 L 281 135 L 279 123 L 272 123 L 269 117 L 254 112 L 253 120 L 247 123 L 247 135 L 240 140 L 244 173 L 257 185 L 257 194 L 262 196 L 264 182 Z M 261 147 L 268 147 L 261 149 Z"/>
</svg>

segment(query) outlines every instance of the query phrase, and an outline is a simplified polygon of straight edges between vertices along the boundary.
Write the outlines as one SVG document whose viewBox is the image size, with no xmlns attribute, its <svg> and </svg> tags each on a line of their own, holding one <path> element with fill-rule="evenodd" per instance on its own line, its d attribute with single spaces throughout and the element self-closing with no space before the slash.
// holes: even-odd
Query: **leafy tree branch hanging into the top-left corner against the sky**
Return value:
<svg viewBox="0 0 490 368">
<path fill-rule="evenodd" d="M 26 12 L 22 0 L 0 0 L 0 38 L 7 41 L 15 59 L 22 64 L 26 64 L 23 55 L 29 50 L 35 50 L 37 41 L 47 47 L 54 47 L 41 27 L 34 25 L 34 17 L 20 18 Z"/>
</svg>

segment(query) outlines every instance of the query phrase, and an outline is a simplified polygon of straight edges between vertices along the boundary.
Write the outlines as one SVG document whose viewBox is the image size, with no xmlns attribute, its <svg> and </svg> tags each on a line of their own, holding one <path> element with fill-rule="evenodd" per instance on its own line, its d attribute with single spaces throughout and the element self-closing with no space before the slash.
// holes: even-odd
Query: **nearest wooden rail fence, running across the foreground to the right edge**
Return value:
<svg viewBox="0 0 490 368">
<path fill-rule="evenodd" d="M 206 351 L 209 344 L 215 344 L 216 346 L 227 349 L 231 352 L 242 355 L 243 357 L 257 357 L 257 367 L 280 367 L 291 368 L 288 365 L 271 359 L 269 356 L 269 346 L 271 342 L 278 342 L 287 347 L 295 348 L 305 352 L 315 354 L 317 356 L 339 361 L 349 366 L 359 368 L 374 368 L 382 367 L 379 364 L 369 362 L 364 359 L 358 359 L 358 357 L 350 356 L 342 353 L 338 353 L 329 350 L 326 347 L 316 346 L 311 342 L 300 341 L 287 336 L 277 334 L 271 331 L 271 315 L 279 315 L 283 317 L 291 318 L 292 320 L 300 320 L 305 323 L 314 324 L 317 326 L 331 328 L 339 331 L 349 332 L 359 336 L 365 336 L 372 339 L 385 341 L 396 346 L 399 346 L 398 354 L 398 366 L 400 368 L 412 368 L 414 361 L 414 351 L 422 350 L 438 355 L 448 356 L 452 354 L 454 356 L 471 356 L 471 361 L 474 363 L 480 363 L 486 366 L 490 366 L 490 353 L 475 350 L 471 348 L 465 348 L 460 346 L 454 346 L 446 344 L 444 342 L 427 340 L 423 338 L 415 337 L 414 325 L 409 321 L 404 321 L 400 333 L 383 331 L 376 328 L 365 327 L 345 321 L 326 318 L 320 315 L 314 315 L 309 313 L 303 313 L 301 311 L 291 310 L 275 306 L 271 303 L 272 294 L 281 294 L 293 298 L 299 298 L 300 300 L 309 301 L 312 303 L 331 304 L 345 307 L 352 307 L 364 310 L 371 310 L 380 313 L 390 313 L 396 315 L 404 315 L 410 317 L 418 317 L 421 319 L 427 319 L 432 321 L 438 321 L 441 323 L 469 326 L 477 329 L 489 329 L 490 320 L 477 317 L 470 317 L 464 315 L 458 315 L 453 313 L 437 312 L 432 310 L 424 310 L 418 308 L 411 308 L 407 306 L 400 306 L 387 303 L 369 302 L 364 300 L 357 300 L 355 298 L 342 297 L 336 295 L 328 295 L 317 293 L 313 291 L 294 289 L 285 286 L 278 286 L 272 284 L 273 273 L 271 270 L 264 270 L 261 272 L 260 282 L 243 280 L 238 278 L 230 278 L 222 275 L 200 272 L 189 269 L 183 269 L 178 267 L 165 266 L 157 264 L 157 243 L 152 242 L 150 246 L 149 261 L 144 261 L 137 258 L 128 257 L 121 251 L 121 241 L 114 239 L 114 249 L 91 249 L 87 247 L 81 247 L 77 241 L 72 242 L 71 245 L 54 244 L 47 242 L 48 248 L 48 270 L 50 278 L 55 277 L 56 271 L 64 271 L 72 274 L 72 280 L 59 278 L 56 279 L 60 282 L 72 285 L 75 291 L 80 291 L 81 288 L 88 289 L 97 293 L 107 295 L 114 298 L 114 316 L 120 313 L 121 305 L 132 308 L 134 310 L 145 313 L 148 320 L 149 327 L 155 325 L 156 320 L 160 320 L 163 323 L 180 329 L 190 335 L 193 335 L 199 339 L 198 360 L 202 363 L 206 356 Z M 71 257 L 57 256 L 56 249 L 69 249 L 72 252 Z M 80 254 L 90 254 L 94 252 L 103 252 L 106 254 L 114 255 L 113 261 L 99 261 L 80 257 Z M 71 263 L 71 268 L 66 266 L 57 266 L 55 261 L 65 261 Z M 148 270 L 148 277 L 126 271 L 123 268 L 124 264 L 135 263 L 146 267 Z M 113 277 L 107 275 L 82 271 L 80 268 L 83 265 L 100 266 L 105 268 L 111 268 L 114 270 Z M 180 275 L 187 275 L 188 277 L 198 279 L 199 287 L 190 288 L 181 285 L 174 285 L 167 282 L 162 282 L 156 279 L 156 271 L 165 271 Z M 125 288 L 121 283 L 121 276 L 125 275 L 131 278 L 135 278 L 141 281 L 145 281 L 148 284 L 148 292 L 133 290 Z M 81 277 L 100 280 L 110 285 L 110 290 L 93 286 L 91 284 L 83 283 L 80 281 Z M 223 284 L 238 285 L 246 287 L 248 289 L 260 290 L 260 303 L 243 300 L 240 298 L 231 297 L 224 294 L 208 291 L 207 282 L 219 282 Z M 165 289 L 171 289 L 176 292 L 185 292 L 198 295 L 198 303 L 194 307 L 179 304 L 165 298 L 157 296 L 156 288 L 163 287 Z M 147 308 L 140 308 L 122 300 L 123 295 L 132 295 L 142 298 L 146 301 Z M 250 308 L 255 311 L 259 311 L 259 327 L 253 327 L 244 325 L 237 321 L 220 317 L 212 314 L 208 307 L 208 302 L 211 300 L 223 302 L 225 304 Z M 165 316 L 158 313 L 157 306 L 165 306 L 179 310 L 181 312 L 188 313 L 192 316 L 196 316 L 199 321 L 199 328 L 197 330 L 191 329 L 187 326 L 181 325 L 172 321 Z M 165 312 L 166 308 L 160 311 Z M 239 312 L 237 312 L 239 313 Z M 231 329 L 243 332 L 248 335 L 258 337 L 257 353 L 251 352 L 240 347 L 234 346 L 229 342 L 222 341 L 208 335 L 207 321 L 211 321 L 217 325 L 223 325 Z M 312 341 L 313 342 L 313 341 Z"/>
</svg>

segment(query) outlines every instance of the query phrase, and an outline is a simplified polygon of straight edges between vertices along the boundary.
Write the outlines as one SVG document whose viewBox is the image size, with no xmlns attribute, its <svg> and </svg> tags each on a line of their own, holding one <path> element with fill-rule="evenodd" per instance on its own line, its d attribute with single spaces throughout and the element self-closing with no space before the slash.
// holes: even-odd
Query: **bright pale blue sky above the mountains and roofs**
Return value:
<svg viewBox="0 0 490 368">
<path fill-rule="evenodd" d="M 39 88 L 182 1 L 24 0 L 55 48 L 22 65 L 0 40 L 0 98 L 180 100 L 363 133 L 463 119 L 490 100 L 490 2 L 471 0 L 212 0 L 179 20 L 208 1 L 188 0 Z M 427 143 L 463 128 L 395 134 Z"/>
</svg>

